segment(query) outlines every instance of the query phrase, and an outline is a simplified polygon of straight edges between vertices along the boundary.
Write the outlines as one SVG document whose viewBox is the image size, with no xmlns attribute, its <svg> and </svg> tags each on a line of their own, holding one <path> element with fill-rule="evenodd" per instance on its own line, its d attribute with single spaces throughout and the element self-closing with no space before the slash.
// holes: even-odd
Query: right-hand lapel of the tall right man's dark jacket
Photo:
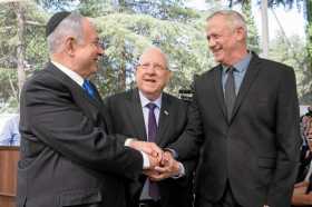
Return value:
<svg viewBox="0 0 312 207">
<path fill-rule="evenodd" d="M 261 61 L 260 61 L 259 57 L 255 53 L 253 53 L 251 63 L 247 68 L 247 71 L 246 71 L 243 82 L 241 85 L 237 98 L 235 100 L 231 121 L 237 114 L 237 110 L 240 109 L 242 101 L 246 97 L 252 83 L 254 82 L 254 79 L 257 77 L 257 73 L 260 71 L 260 65 L 261 65 Z"/>
</svg>

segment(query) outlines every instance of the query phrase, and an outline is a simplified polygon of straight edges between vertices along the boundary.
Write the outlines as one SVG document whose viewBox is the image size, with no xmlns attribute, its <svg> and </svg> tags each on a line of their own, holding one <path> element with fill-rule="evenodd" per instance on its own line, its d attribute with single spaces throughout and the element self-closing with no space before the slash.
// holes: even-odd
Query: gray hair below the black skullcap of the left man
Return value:
<svg viewBox="0 0 312 207">
<path fill-rule="evenodd" d="M 76 38 L 78 43 L 84 43 L 84 18 L 80 13 L 72 12 L 57 26 L 55 31 L 48 36 L 47 40 L 50 55 L 59 52 L 66 37 L 69 36 Z"/>
</svg>

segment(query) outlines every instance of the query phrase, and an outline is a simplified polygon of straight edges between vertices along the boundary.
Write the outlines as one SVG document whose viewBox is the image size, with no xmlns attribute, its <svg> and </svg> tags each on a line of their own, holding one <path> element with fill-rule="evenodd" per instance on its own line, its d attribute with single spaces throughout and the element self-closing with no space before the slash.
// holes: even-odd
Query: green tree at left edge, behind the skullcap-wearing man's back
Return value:
<svg viewBox="0 0 312 207">
<path fill-rule="evenodd" d="M 9 73 L 10 79 L 1 82 L 1 93 L 4 100 L 14 100 L 18 102 L 19 90 L 26 79 L 26 75 L 36 69 L 40 57 L 45 56 L 42 48 L 46 43 L 41 42 L 43 38 L 45 14 L 36 3 L 29 2 L 9 2 L 1 3 L 0 8 L 0 68 Z M 41 62 L 40 62 L 41 63 Z M 41 63 L 42 65 L 42 63 Z M 11 72 L 18 76 L 11 76 Z M 14 79 L 16 78 L 16 79 Z M 2 87 L 8 83 L 9 88 Z M 13 82 L 13 83 L 12 83 Z M 18 86 L 18 87 L 16 87 Z M 8 91 L 3 91 L 9 89 Z M 1 99 L 1 101 L 4 101 Z"/>
</svg>

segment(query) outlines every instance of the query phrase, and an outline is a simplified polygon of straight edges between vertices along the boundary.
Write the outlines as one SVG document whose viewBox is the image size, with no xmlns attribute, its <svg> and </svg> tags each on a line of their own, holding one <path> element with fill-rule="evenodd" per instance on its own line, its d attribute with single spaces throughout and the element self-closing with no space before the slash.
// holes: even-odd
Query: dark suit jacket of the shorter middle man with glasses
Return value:
<svg viewBox="0 0 312 207">
<path fill-rule="evenodd" d="M 105 105 L 110 115 L 109 120 L 107 120 L 110 124 L 110 127 L 108 127 L 109 132 L 123 134 L 128 137 L 147 140 L 137 89 L 108 97 L 105 100 Z M 156 137 L 156 144 L 159 147 L 167 147 L 168 144 L 176 141 L 184 132 L 188 125 L 187 105 L 187 102 L 181 99 L 165 92 L 163 93 Z M 189 207 L 192 205 L 192 178 L 195 168 L 194 157 L 183 160 L 183 165 L 186 169 L 185 177 L 178 179 L 168 178 L 158 184 L 163 207 Z M 129 184 L 129 196 L 133 198 L 131 205 L 134 206 L 138 204 L 145 180 L 146 177 L 142 176 L 136 183 Z"/>
</svg>

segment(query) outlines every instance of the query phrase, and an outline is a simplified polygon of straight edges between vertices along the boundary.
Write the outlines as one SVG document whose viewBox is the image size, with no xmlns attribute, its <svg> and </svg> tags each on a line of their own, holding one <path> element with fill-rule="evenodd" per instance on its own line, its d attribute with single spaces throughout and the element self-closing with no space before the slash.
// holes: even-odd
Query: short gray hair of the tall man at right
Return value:
<svg viewBox="0 0 312 207">
<path fill-rule="evenodd" d="M 215 11 L 209 17 L 207 17 L 206 21 L 209 21 L 212 18 L 214 18 L 216 16 L 225 17 L 227 22 L 228 22 L 228 26 L 232 29 L 236 29 L 236 28 L 241 27 L 241 28 L 244 29 L 245 34 L 247 34 L 246 20 L 245 20 L 245 18 L 240 12 L 234 11 L 234 10 L 220 10 L 220 11 Z"/>
</svg>

